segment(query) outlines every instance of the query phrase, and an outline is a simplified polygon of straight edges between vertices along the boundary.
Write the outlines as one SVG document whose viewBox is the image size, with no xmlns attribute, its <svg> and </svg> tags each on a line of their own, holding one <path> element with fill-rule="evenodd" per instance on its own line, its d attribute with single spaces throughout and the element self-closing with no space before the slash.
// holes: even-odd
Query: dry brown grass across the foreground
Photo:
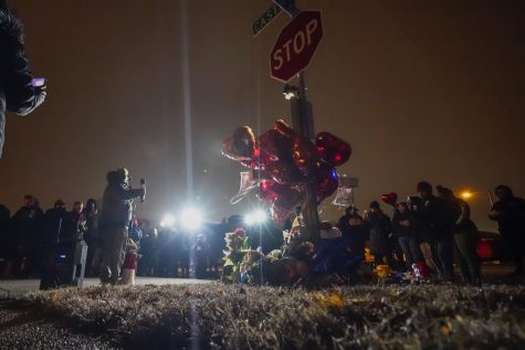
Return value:
<svg viewBox="0 0 525 350">
<path fill-rule="evenodd" d="M 525 287 L 244 285 L 90 287 L 21 305 L 126 349 L 496 349 L 525 347 Z"/>
</svg>

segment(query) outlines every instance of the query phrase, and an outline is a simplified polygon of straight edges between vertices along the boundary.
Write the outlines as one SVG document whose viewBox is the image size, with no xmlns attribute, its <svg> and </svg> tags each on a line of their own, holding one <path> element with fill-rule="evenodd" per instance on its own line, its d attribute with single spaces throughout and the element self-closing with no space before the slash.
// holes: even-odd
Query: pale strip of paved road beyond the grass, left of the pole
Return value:
<svg viewBox="0 0 525 350">
<path fill-rule="evenodd" d="M 136 285 L 180 285 L 180 284 L 206 284 L 208 279 L 196 278 L 158 278 L 158 277 L 136 277 Z M 83 287 L 96 286 L 101 283 L 98 278 L 84 278 Z M 36 291 L 40 287 L 40 279 L 0 279 L 0 299 L 21 296 L 29 291 Z"/>
</svg>

